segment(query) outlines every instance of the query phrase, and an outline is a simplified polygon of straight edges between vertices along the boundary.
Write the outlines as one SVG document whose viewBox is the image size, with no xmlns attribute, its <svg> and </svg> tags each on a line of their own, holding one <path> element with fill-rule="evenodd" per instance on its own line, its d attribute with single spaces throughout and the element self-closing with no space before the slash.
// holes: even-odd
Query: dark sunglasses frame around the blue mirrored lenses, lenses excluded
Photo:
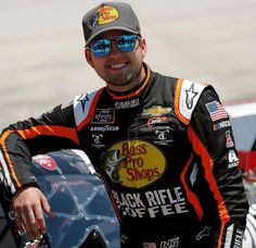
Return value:
<svg viewBox="0 0 256 248">
<path fill-rule="evenodd" d="M 85 48 L 86 48 L 87 50 L 90 50 L 97 58 L 102 58 L 102 57 L 106 57 L 107 54 L 110 54 L 111 51 L 112 51 L 112 44 L 113 44 L 113 42 L 115 42 L 115 46 L 116 46 L 117 49 L 118 49 L 119 51 L 121 51 L 121 52 L 131 52 L 131 51 L 133 51 L 135 49 L 138 48 L 137 45 L 135 45 L 135 47 L 133 47 L 131 50 L 128 50 L 128 51 L 125 51 L 125 50 L 123 50 L 121 48 L 119 48 L 119 46 L 118 46 L 118 44 L 117 44 L 117 41 L 118 41 L 117 39 L 118 39 L 118 38 L 121 39 L 121 37 L 124 37 L 124 36 L 132 36 L 132 37 L 135 38 L 135 42 L 136 42 L 137 40 L 139 40 L 139 41 L 141 40 L 141 36 L 140 36 L 140 35 L 137 35 L 137 34 L 124 34 L 124 35 L 116 36 L 116 37 L 113 38 L 113 39 L 110 39 L 110 38 L 95 39 L 95 40 L 91 41 L 90 45 L 86 45 Z M 111 49 L 110 49 L 108 52 L 105 52 L 105 53 L 99 55 L 99 53 L 97 53 L 97 52 L 93 51 L 92 45 L 95 44 L 95 42 L 99 42 L 100 40 L 108 40 L 108 41 L 110 41 L 110 45 L 111 45 Z"/>
</svg>

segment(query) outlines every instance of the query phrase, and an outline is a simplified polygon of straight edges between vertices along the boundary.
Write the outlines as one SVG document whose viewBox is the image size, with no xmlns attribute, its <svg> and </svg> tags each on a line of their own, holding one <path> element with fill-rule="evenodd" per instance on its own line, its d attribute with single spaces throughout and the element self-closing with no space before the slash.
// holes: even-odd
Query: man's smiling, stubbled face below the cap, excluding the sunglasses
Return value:
<svg viewBox="0 0 256 248">
<path fill-rule="evenodd" d="M 108 30 L 97 39 L 115 39 L 117 36 L 127 34 L 124 30 Z M 144 77 L 142 70 L 143 57 L 146 52 L 146 44 L 142 38 L 136 41 L 136 48 L 130 52 L 120 51 L 115 41 L 112 41 L 111 52 L 98 58 L 91 50 L 86 50 L 86 58 L 89 64 L 95 70 L 113 90 L 128 90 L 138 85 Z"/>
</svg>

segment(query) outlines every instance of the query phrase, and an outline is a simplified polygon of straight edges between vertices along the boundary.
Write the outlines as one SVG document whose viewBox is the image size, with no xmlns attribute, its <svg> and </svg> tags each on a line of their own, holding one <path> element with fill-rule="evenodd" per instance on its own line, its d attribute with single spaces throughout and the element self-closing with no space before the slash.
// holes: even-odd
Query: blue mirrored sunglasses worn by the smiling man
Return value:
<svg viewBox="0 0 256 248">
<path fill-rule="evenodd" d="M 93 54 L 98 58 L 105 57 L 111 52 L 112 41 L 115 42 L 116 47 L 123 52 L 133 51 L 136 48 L 136 41 L 139 40 L 138 35 L 120 35 L 114 39 L 98 39 L 91 42 L 90 46 L 86 47 L 90 49 Z"/>
</svg>

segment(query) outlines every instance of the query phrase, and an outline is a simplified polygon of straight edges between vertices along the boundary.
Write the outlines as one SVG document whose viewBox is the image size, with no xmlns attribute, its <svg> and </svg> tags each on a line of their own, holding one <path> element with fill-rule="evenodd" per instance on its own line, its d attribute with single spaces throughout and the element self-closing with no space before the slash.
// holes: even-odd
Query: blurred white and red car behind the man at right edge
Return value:
<svg viewBox="0 0 256 248">
<path fill-rule="evenodd" d="M 256 100 L 227 104 L 249 202 L 243 248 L 256 247 Z"/>
</svg>

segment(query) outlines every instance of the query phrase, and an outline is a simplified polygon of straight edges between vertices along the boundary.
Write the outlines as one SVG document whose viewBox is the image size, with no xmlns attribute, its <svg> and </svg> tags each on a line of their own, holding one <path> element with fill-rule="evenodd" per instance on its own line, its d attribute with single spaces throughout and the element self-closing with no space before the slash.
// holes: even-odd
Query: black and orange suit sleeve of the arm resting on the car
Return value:
<svg viewBox="0 0 256 248">
<path fill-rule="evenodd" d="M 78 145 L 73 104 L 10 125 L 0 137 L 0 172 L 5 186 L 14 194 L 23 185 L 37 184 L 33 156 Z"/>
</svg>

